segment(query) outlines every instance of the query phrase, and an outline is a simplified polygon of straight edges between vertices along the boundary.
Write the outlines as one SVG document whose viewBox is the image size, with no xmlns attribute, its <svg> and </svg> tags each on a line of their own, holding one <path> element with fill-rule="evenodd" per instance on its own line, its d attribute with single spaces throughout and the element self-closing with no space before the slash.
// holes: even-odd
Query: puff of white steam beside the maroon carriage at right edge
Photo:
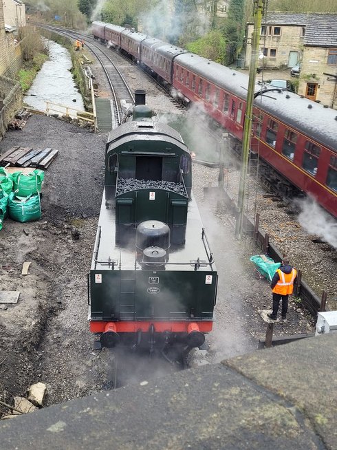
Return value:
<svg viewBox="0 0 337 450">
<path fill-rule="evenodd" d="M 298 222 L 312 235 L 317 235 L 337 248 L 337 224 L 312 198 L 299 202 Z"/>
</svg>

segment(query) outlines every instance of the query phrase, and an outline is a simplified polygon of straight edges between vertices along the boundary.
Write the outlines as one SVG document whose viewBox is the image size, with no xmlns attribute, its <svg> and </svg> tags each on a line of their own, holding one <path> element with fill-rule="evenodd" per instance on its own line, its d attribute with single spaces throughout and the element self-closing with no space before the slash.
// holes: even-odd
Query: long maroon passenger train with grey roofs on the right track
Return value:
<svg viewBox="0 0 337 450">
<path fill-rule="evenodd" d="M 109 41 L 173 87 L 185 103 L 204 107 L 232 136 L 242 140 L 248 76 L 145 34 L 103 22 L 92 34 Z M 257 87 L 257 91 L 261 87 Z M 337 115 L 334 109 L 285 91 L 254 102 L 251 151 L 280 192 L 311 195 L 337 217 Z M 280 175 L 281 176 L 280 176 Z M 285 180 L 284 180 L 285 178 Z"/>
</svg>

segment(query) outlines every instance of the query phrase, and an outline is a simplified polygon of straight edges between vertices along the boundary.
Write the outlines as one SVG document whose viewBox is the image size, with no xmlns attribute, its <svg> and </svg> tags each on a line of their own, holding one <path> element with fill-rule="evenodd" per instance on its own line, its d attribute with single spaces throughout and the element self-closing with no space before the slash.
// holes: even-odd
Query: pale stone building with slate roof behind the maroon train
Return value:
<svg viewBox="0 0 337 450">
<path fill-rule="evenodd" d="M 268 12 L 261 26 L 259 66 L 287 69 L 301 61 L 298 94 L 337 109 L 336 24 L 337 14 Z M 248 22 L 245 67 L 252 56 L 253 28 Z"/>
</svg>

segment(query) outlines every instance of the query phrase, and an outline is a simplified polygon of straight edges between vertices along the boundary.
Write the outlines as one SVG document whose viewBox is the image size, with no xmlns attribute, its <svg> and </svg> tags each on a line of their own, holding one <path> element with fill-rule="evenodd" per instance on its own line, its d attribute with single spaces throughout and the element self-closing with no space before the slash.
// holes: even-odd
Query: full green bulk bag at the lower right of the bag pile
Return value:
<svg viewBox="0 0 337 450">
<path fill-rule="evenodd" d="M 40 194 L 18 197 L 14 192 L 10 193 L 8 215 L 17 222 L 32 222 L 41 219 Z"/>
</svg>

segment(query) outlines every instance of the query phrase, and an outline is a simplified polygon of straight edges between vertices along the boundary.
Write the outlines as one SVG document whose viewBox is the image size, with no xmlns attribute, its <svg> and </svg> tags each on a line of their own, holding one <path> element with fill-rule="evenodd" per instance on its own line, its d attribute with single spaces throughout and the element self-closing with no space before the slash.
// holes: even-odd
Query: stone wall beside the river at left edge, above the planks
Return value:
<svg viewBox="0 0 337 450">
<path fill-rule="evenodd" d="M 8 123 L 14 118 L 15 111 L 21 109 L 22 91 L 21 86 L 14 80 L 0 76 L 0 98 L 3 107 L 0 110 L 0 140 L 5 136 Z"/>
</svg>

